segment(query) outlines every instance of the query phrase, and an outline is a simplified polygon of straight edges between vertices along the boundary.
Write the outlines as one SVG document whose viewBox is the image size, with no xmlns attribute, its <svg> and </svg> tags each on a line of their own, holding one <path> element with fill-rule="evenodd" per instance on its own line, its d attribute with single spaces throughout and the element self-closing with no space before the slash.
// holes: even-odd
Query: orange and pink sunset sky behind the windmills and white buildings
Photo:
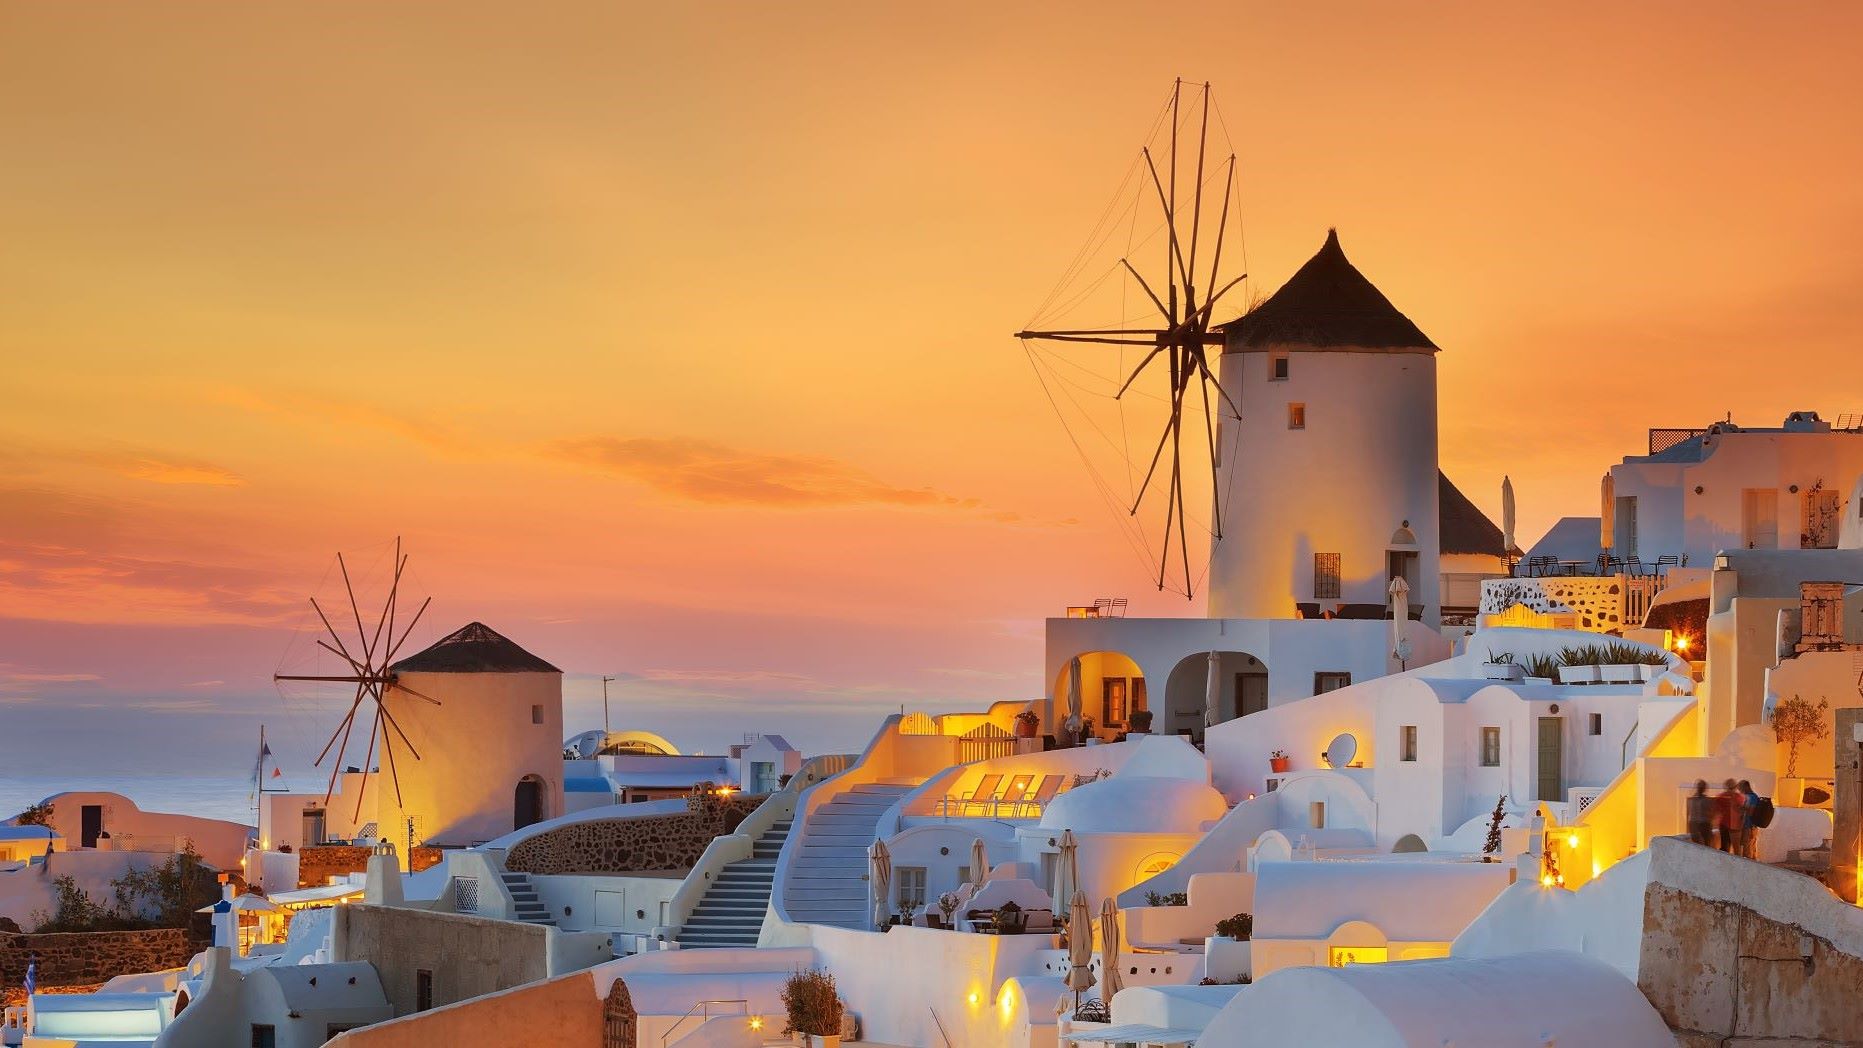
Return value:
<svg viewBox="0 0 1863 1048">
<path fill-rule="evenodd" d="M 1174 76 L 1250 294 L 1336 225 L 1520 538 L 1863 410 L 1856 6 L 0 4 L 0 763 L 302 771 L 332 555 L 572 728 L 857 746 L 1159 596 L 1021 346 Z M 1220 315 L 1220 313 L 1218 313 Z M 307 778 L 306 778 L 307 780 Z"/>
</svg>

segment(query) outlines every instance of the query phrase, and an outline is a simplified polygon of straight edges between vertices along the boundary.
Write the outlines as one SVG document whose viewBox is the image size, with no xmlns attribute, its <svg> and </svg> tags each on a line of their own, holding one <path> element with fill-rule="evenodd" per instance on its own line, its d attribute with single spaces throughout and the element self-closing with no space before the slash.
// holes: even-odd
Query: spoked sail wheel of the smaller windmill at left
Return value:
<svg viewBox="0 0 1863 1048">
<path fill-rule="evenodd" d="M 335 748 L 335 761 L 330 765 L 330 786 L 324 787 L 324 804 L 330 804 L 330 797 L 337 789 L 337 773 L 343 769 L 343 752 L 348 750 L 350 732 L 356 728 L 356 713 L 361 709 L 363 700 L 374 704 L 374 713 L 369 717 L 369 748 L 363 754 L 361 763 L 361 789 L 356 791 L 356 817 L 361 819 L 361 799 L 369 791 L 369 765 L 374 759 L 376 737 L 382 739 L 382 752 L 388 758 L 388 776 L 395 784 L 395 804 L 401 804 L 401 776 L 395 773 L 395 735 L 401 737 L 401 745 L 414 754 L 414 759 L 421 759 L 421 752 L 414 748 L 408 741 L 408 733 L 401 730 L 401 722 L 388 709 L 388 696 L 391 691 L 404 692 L 421 702 L 430 702 L 440 705 L 438 698 L 421 694 L 406 685 L 395 681 L 395 674 L 389 666 L 395 663 L 395 653 L 414 633 L 414 625 L 421 622 L 421 614 L 427 611 L 434 599 L 427 598 L 421 607 L 414 611 L 414 618 L 401 629 L 401 637 L 395 637 L 395 612 L 397 599 L 401 596 L 401 575 L 408 568 L 408 557 L 401 551 L 401 538 L 395 540 L 395 575 L 388 584 L 388 599 L 382 601 L 382 612 L 376 616 L 374 631 L 369 631 L 361 624 L 361 605 L 356 603 L 356 586 L 350 584 L 348 564 L 343 555 L 337 553 L 337 568 L 343 571 L 343 588 L 348 594 L 350 614 L 356 622 L 356 648 L 343 642 L 343 635 L 335 625 L 330 624 L 330 616 L 324 614 L 322 605 L 317 598 L 311 598 L 311 609 L 317 611 L 317 618 L 324 624 L 330 633 L 330 640 L 322 637 L 317 638 L 317 646 L 332 655 L 348 663 L 348 674 L 326 674 L 326 676 L 302 676 L 302 674 L 274 674 L 274 681 L 324 681 L 324 683 L 354 683 L 356 698 L 350 702 L 348 713 L 337 730 L 330 733 L 330 741 L 324 743 L 320 754 L 313 767 L 322 767 L 324 758 Z M 341 612 L 339 612 L 341 616 Z"/>
</svg>

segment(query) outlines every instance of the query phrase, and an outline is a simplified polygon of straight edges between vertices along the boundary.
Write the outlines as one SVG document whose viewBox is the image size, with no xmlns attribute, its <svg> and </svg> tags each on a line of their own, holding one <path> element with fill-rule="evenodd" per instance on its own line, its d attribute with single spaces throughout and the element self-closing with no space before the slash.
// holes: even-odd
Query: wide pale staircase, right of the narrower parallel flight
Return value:
<svg viewBox="0 0 1863 1048">
<path fill-rule="evenodd" d="M 816 808 L 796 841 L 782 905 L 792 921 L 870 929 L 866 849 L 874 825 L 913 782 L 863 782 Z"/>
</svg>

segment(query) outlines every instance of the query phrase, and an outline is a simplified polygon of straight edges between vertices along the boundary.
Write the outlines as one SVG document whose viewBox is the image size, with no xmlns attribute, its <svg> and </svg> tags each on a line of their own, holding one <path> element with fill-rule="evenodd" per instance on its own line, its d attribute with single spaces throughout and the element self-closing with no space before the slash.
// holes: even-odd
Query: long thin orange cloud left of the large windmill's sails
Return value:
<svg viewBox="0 0 1863 1048">
<path fill-rule="evenodd" d="M 976 499 L 932 488 L 900 488 L 835 458 L 743 450 L 691 437 L 572 437 L 548 445 L 546 454 L 691 503 L 777 508 L 980 506 Z"/>
</svg>

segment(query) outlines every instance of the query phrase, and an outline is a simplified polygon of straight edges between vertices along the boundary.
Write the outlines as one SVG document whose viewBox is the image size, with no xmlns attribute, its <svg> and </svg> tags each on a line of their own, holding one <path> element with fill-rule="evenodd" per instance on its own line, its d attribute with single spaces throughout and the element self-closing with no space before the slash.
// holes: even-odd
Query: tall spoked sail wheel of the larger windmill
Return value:
<svg viewBox="0 0 1863 1048">
<path fill-rule="evenodd" d="M 1144 503 L 1146 493 L 1151 490 L 1151 482 L 1159 475 L 1159 465 L 1164 458 L 1164 449 L 1170 449 L 1170 480 L 1164 488 L 1164 544 L 1159 553 L 1159 577 L 1157 584 L 1164 588 L 1164 575 L 1170 568 L 1170 547 L 1172 547 L 1172 527 L 1177 532 L 1177 553 L 1183 558 L 1183 579 L 1185 579 L 1185 598 L 1190 598 L 1190 547 L 1189 536 L 1185 532 L 1185 504 L 1183 504 L 1183 408 L 1185 400 L 1192 393 L 1198 395 L 1203 406 L 1203 439 L 1209 445 L 1211 460 L 1211 534 L 1222 538 L 1222 491 L 1217 482 L 1218 449 L 1217 449 L 1217 430 L 1211 421 L 1211 387 L 1215 387 L 1217 396 L 1228 404 L 1231 415 L 1241 417 L 1235 402 L 1228 393 L 1222 391 L 1222 383 L 1217 380 L 1209 367 L 1209 346 L 1222 346 L 1222 333 L 1211 331 L 1211 315 L 1217 302 L 1228 294 L 1235 285 L 1248 279 L 1248 274 L 1237 274 L 1224 281 L 1222 277 L 1222 244 L 1224 231 L 1230 222 L 1230 194 L 1235 186 L 1235 155 L 1228 158 L 1228 171 L 1222 188 L 1222 212 L 1217 218 L 1215 229 L 1215 248 L 1209 253 L 1209 277 L 1202 279 L 1198 272 L 1198 249 L 1202 248 L 1203 235 L 1203 162 L 1209 145 L 1209 84 L 1202 86 L 1202 117 L 1200 132 L 1196 140 L 1196 182 L 1190 199 L 1189 216 L 1183 214 L 1183 207 L 1177 199 L 1177 127 L 1179 127 L 1179 108 L 1183 102 L 1183 80 L 1172 86 L 1170 97 L 1170 158 L 1166 164 L 1166 173 L 1159 175 L 1157 158 L 1151 156 L 1151 147 L 1146 145 L 1140 155 L 1144 156 L 1144 168 L 1151 177 L 1151 188 L 1157 194 L 1157 203 L 1164 212 L 1164 279 L 1159 281 L 1164 287 L 1161 296 L 1153 281 L 1148 281 L 1138 274 L 1129 259 L 1120 259 L 1120 266 L 1138 287 L 1144 290 L 1151 305 L 1157 307 L 1159 322 L 1146 328 L 1090 328 L 1090 329 L 1056 329 L 1056 331 L 1017 331 L 1015 337 L 1043 339 L 1054 343 L 1099 343 L 1112 346 L 1140 346 L 1149 348 L 1138 367 L 1125 376 L 1114 398 L 1122 398 L 1127 389 L 1138 380 L 1153 361 L 1164 357 L 1166 374 L 1170 378 L 1168 391 L 1168 417 L 1164 423 L 1164 432 L 1159 436 L 1157 447 L 1151 450 L 1151 462 L 1146 467 L 1144 480 L 1138 484 L 1138 491 L 1127 508 L 1129 516 L 1138 516 L 1138 506 Z M 1185 218 L 1189 218 L 1189 229 L 1185 227 Z M 1215 290 L 1213 290 L 1215 289 Z"/>
</svg>

